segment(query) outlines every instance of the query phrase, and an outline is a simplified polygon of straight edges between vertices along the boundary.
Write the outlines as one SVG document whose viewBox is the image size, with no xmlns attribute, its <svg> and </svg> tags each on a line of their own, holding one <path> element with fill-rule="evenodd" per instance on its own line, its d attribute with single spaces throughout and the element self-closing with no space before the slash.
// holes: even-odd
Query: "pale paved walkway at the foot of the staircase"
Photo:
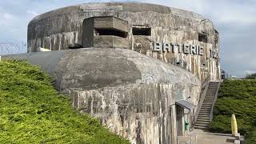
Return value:
<svg viewBox="0 0 256 144">
<path fill-rule="evenodd" d="M 232 144 L 231 134 L 210 133 L 203 130 L 193 130 L 186 136 L 178 137 L 178 144 Z"/>
</svg>

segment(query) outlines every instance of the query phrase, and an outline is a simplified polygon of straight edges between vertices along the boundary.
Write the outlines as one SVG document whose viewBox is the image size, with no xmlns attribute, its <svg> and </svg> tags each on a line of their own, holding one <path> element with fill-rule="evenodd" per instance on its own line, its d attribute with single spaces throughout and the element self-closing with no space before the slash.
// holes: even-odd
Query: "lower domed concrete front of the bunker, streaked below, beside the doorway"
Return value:
<svg viewBox="0 0 256 144">
<path fill-rule="evenodd" d="M 18 54 L 56 78 L 73 106 L 132 143 L 176 143 L 175 101 L 197 109 L 201 83 L 178 66 L 126 49 L 90 48 Z M 192 121 L 193 113 L 186 116 Z"/>
</svg>

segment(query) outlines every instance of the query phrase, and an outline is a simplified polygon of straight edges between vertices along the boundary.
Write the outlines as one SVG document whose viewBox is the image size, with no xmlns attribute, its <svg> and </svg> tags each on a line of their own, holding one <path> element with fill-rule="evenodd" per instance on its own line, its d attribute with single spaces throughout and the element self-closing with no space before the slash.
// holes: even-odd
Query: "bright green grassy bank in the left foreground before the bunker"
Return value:
<svg viewBox="0 0 256 144">
<path fill-rule="evenodd" d="M 48 74 L 28 62 L 0 62 L 1 143 L 129 143 L 78 114 Z"/>
</svg>

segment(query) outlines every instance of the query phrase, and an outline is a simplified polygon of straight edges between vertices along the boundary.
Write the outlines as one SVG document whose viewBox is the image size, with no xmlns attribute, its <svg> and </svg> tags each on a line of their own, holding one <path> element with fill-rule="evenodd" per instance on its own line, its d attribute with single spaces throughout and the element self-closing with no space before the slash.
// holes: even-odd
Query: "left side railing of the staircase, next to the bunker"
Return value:
<svg viewBox="0 0 256 144">
<path fill-rule="evenodd" d="M 198 119 L 198 114 L 200 112 L 200 109 L 202 107 L 202 102 L 204 101 L 205 97 L 206 97 L 206 93 L 207 93 L 207 90 L 208 90 L 208 87 L 209 87 L 209 83 L 210 83 L 210 76 L 208 76 L 206 78 L 206 80 L 202 83 L 202 86 L 201 86 L 201 94 L 200 94 L 200 99 L 199 99 L 199 103 L 198 103 L 198 108 L 194 114 L 194 118 L 193 118 L 193 122 L 192 122 L 192 126 L 191 127 L 194 127 L 195 123 L 197 122 L 197 119 Z"/>
</svg>

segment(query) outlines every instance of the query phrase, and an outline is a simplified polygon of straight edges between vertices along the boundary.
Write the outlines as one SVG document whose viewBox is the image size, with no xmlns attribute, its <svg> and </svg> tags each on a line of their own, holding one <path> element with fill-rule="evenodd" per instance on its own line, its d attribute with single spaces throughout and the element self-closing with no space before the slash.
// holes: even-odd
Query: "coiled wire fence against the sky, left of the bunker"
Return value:
<svg viewBox="0 0 256 144">
<path fill-rule="evenodd" d="M 25 42 L 0 42 L 0 55 L 26 53 Z"/>
</svg>

